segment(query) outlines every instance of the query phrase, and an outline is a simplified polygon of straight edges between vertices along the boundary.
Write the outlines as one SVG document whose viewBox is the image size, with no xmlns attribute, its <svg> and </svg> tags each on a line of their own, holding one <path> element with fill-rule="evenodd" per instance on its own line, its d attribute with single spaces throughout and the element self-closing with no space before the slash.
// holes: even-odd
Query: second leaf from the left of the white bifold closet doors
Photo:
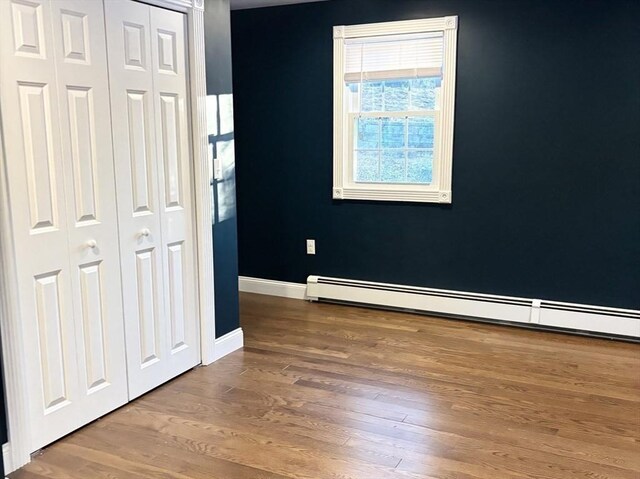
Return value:
<svg viewBox="0 0 640 479">
<path fill-rule="evenodd" d="M 51 6 L 84 424 L 128 400 L 106 33 L 101 0 Z"/>
</svg>

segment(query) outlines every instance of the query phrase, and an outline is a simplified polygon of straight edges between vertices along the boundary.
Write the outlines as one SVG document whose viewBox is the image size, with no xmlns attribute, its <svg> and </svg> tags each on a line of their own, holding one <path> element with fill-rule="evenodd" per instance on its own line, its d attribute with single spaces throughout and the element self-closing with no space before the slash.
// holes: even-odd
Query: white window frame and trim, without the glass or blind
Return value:
<svg viewBox="0 0 640 479">
<path fill-rule="evenodd" d="M 440 109 L 424 112 L 435 120 L 433 181 L 428 185 L 357 183 L 353 178 L 353 117 L 345 101 L 345 40 L 383 35 L 443 32 L 444 64 Z M 438 17 L 399 22 L 333 27 L 333 198 L 336 200 L 415 201 L 451 203 L 453 117 L 456 90 L 458 17 Z M 368 116 L 365 113 L 355 114 Z M 385 112 L 385 116 L 405 112 Z"/>
</svg>

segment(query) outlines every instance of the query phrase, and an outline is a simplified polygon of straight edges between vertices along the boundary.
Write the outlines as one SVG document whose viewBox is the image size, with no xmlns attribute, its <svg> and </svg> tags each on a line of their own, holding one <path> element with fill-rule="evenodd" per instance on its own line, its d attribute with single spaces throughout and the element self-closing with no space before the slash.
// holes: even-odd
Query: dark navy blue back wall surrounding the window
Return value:
<svg viewBox="0 0 640 479">
<path fill-rule="evenodd" d="M 443 15 L 459 16 L 453 204 L 333 201 L 332 26 Z M 636 0 L 233 12 L 240 274 L 639 309 L 639 25 Z"/>
</svg>

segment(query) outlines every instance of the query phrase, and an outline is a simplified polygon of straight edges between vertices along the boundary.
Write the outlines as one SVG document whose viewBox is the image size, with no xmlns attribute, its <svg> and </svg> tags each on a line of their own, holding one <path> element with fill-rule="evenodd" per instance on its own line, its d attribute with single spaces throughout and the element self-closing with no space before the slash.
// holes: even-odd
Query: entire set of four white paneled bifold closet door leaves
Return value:
<svg viewBox="0 0 640 479">
<path fill-rule="evenodd" d="M 0 0 L 33 451 L 200 362 L 185 29 L 129 0 Z"/>
</svg>

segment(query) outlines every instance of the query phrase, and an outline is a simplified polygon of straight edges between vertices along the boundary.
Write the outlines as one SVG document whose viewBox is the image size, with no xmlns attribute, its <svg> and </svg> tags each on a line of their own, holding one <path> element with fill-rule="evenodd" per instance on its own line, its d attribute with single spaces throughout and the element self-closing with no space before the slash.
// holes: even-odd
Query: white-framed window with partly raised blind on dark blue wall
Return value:
<svg viewBox="0 0 640 479">
<path fill-rule="evenodd" d="M 335 199 L 451 203 L 457 20 L 334 27 Z"/>
</svg>

